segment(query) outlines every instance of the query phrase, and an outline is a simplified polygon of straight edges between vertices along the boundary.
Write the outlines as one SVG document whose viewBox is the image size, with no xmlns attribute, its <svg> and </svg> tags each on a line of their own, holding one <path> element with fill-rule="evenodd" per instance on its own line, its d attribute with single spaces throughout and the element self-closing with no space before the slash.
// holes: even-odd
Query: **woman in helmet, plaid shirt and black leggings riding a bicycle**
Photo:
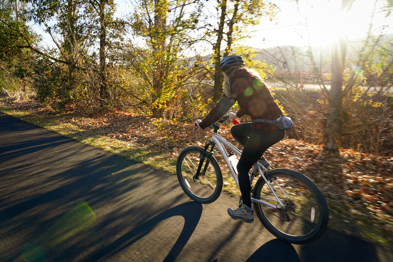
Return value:
<svg viewBox="0 0 393 262">
<path fill-rule="evenodd" d="M 236 101 L 240 110 L 236 114 L 228 113 L 229 119 L 241 118 L 246 114 L 253 120 L 253 122 L 234 125 L 231 128 L 232 136 L 244 147 L 237 164 L 243 200 L 240 207 L 228 208 L 231 218 L 252 223 L 254 209 L 251 205 L 248 172 L 255 162 L 261 160 L 266 149 L 285 136 L 285 131 L 278 129 L 274 124 L 260 120 L 275 120 L 282 115 L 282 112 L 259 73 L 246 68 L 241 56 L 224 57 L 220 63 L 220 70 L 224 75 L 224 94 L 205 119 L 202 121 L 198 119 L 195 124 L 202 129 L 209 127 L 222 118 Z M 264 158 L 261 162 L 263 160 Z"/>
</svg>

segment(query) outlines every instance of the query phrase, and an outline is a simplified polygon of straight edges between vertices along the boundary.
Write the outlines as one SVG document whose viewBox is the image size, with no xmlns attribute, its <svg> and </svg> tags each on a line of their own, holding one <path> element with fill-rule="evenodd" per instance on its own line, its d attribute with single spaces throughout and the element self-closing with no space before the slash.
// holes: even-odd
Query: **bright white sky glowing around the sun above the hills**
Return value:
<svg viewBox="0 0 393 262">
<path fill-rule="evenodd" d="M 298 3 L 294 0 L 270 1 L 280 8 L 276 19 L 270 21 L 262 18 L 261 24 L 249 29 L 255 31 L 254 36 L 245 39 L 241 42 L 242 44 L 255 48 L 267 48 L 277 45 L 304 46 L 310 41 L 311 46 L 320 46 L 333 42 L 340 30 L 347 30 L 349 39 L 358 39 L 365 36 L 375 5 L 375 0 L 355 0 L 346 19 L 340 20 L 341 0 L 299 0 Z M 116 12 L 118 17 L 124 17 L 134 9 L 130 0 L 115 0 L 115 2 L 118 3 Z M 213 2 L 214 0 L 211 4 Z M 381 12 L 385 1 L 377 0 L 376 2 L 377 13 L 373 18 L 373 28 L 377 35 L 380 33 L 378 28 L 393 25 L 393 15 L 386 18 L 386 12 Z M 215 10 L 212 12 L 214 13 Z M 307 26 L 309 31 L 307 31 Z M 37 25 L 33 28 L 42 35 L 46 44 L 53 46 L 49 35 L 42 28 Z M 393 33 L 393 28 L 385 28 L 384 33 Z M 208 48 L 211 50 L 211 46 Z"/>
</svg>

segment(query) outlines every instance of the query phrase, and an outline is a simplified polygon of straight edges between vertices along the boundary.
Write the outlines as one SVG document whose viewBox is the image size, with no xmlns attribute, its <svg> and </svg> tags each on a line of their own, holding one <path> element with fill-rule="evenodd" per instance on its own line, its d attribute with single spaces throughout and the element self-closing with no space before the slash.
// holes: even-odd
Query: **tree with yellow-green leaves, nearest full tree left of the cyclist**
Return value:
<svg viewBox="0 0 393 262">
<path fill-rule="evenodd" d="M 141 0 L 136 6 L 132 33 L 143 39 L 144 46 L 129 42 L 125 60 L 148 91 L 140 100 L 149 104 L 153 117 L 165 119 L 180 87 L 195 74 L 186 55 L 201 4 L 196 0 Z"/>
</svg>

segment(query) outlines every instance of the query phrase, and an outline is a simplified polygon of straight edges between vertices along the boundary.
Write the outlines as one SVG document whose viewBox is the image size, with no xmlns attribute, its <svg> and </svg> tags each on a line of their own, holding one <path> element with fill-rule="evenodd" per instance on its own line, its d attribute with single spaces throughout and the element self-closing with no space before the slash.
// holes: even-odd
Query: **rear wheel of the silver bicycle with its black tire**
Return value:
<svg viewBox="0 0 393 262">
<path fill-rule="evenodd" d="M 275 183 L 278 183 L 286 192 L 288 197 L 285 197 L 285 199 L 292 199 L 292 202 L 288 203 L 295 203 L 295 205 L 293 210 L 284 212 L 254 202 L 254 210 L 264 227 L 275 237 L 291 244 L 309 244 L 320 238 L 329 222 L 329 209 L 319 188 L 308 177 L 294 170 L 275 168 L 266 174 L 272 179 L 270 185 L 278 189 L 275 190 L 277 196 L 279 194 L 284 196 L 284 194 Z M 273 182 L 273 180 L 276 182 Z M 291 182 L 292 185 L 296 186 L 291 186 Z M 303 186 L 298 186 L 299 183 Z M 270 204 L 274 205 L 273 203 L 277 203 L 277 199 L 274 196 L 268 196 L 272 194 L 269 194 L 266 188 L 268 186 L 263 177 L 259 177 L 255 183 L 253 197 L 265 202 L 270 201 Z M 268 190 L 271 192 L 270 188 Z M 307 198 L 309 194 L 311 196 Z M 318 210 L 316 211 L 315 208 L 318 208 Z M 301 214 L 302 212 L 303 214 Z M 285 213 L 288 217 L 285 217 Z M 317 219 L 316 222 L 314 222 L 315 219 Z"/>
</svg>

